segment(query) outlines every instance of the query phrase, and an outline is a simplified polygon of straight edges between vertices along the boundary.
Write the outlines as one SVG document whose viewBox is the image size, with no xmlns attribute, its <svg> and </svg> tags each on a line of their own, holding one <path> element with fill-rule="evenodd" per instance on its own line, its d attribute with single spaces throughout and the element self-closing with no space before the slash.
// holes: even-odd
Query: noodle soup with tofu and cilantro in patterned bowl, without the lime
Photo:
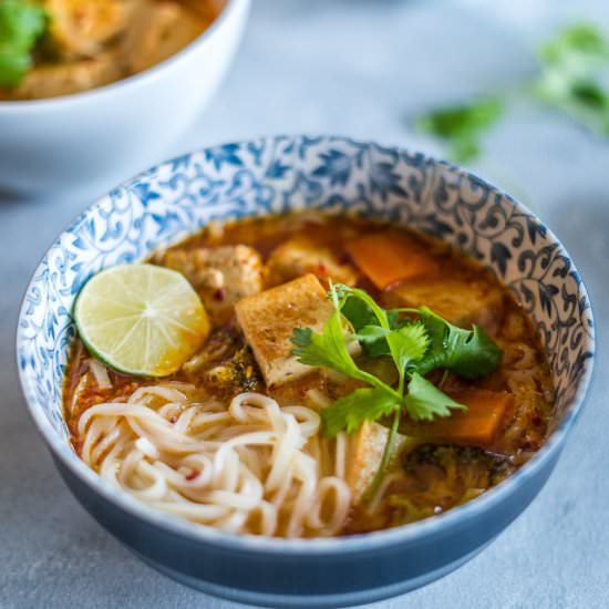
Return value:
<svg viewBox="0 0 609 609">
<path fill-rule="evenodd" d="M 238 534 L 365 533 L 474 499 L 545 441 L 533 328 L 438 241 L 293 214 L 209 226 L 151 262 L 188 280 L 209 330 L 163 378 L 78 340 L 64 415 L 79 456 L 157 509 Z"/>
</svg>

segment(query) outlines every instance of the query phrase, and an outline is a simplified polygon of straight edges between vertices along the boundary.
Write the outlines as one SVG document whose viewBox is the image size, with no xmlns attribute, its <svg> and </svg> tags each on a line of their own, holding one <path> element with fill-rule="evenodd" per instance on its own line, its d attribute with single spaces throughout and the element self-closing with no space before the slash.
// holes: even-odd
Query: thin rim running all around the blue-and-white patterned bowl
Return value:
<svg viewBox="0 0 609 609">
<path fill-rule="evenodd" d="M 19 311 L 16 338 L 19 380 L 30 416 L 32 417 L 35 427 L 42 435 L 48 447 L 51 450 L 52 456 L 54 458 L 59 458 L 62 464 L 93 493 L 101 495 L 103 499 L 112 503 L 116 508 L 128 513 L 128 515 L 132 517 L 143 520 L 146 525 L 152 526 L 153 528 L 162 529 L 164 533 L 172 534 L 177 537 L 187 538 L 190 541 L 215 545 L 228 550 L 237 550 L 245 554 L 259 554 L 262 551 L 289 556 L 329 556 L 344 553 L 374 551 L 383 547 L 386 548 L 394 545 L 417 541 L 425 537 L 434 537 L 445 533 L 446 530 L 454 529 L 461 526 L 463 523 L 474 520 L 478 517 L 479 514 L 493 509 L 493 507 L 500 504 L 504 499 L 507 499 L 517 486 L 520 486 L 527 479 L 535 477 L 546 466 L 548 462 L 550 462 L 554 457 L 557 457 L 558 453 L 562 448 L 569 431 L 571 430 L 572 425 L 581 413 L 588 390 L 591 384 L 592 373 L 596 363 L 596 334 L 593 332 L 595 317 L 589 298 L 589 292 L 581 278 L 581 275 L 574 264 L 572 257 L 567 251 L 560 239 L 558 239 L 556 235 L 544 223 L 541 223 L 537 215 L 533 214 L 527 208 L 526 205 L 517 202 L 510 195 L 505 193 L 502 188 L 494 186 L 492 183 L 483 178 L 479 178 L 477 175 L 468 172 L 467 169 L 464 169 L 446 161 L 430 156 L 425 153 L 420 153 L 419 151 L 410 149 L 400 145 L 380 145 L 375 141 L 362 142 L 345 136 L 320 136 L 310 134 L 288 136 L 276 135 L 259 138 L 249 138 L 238 142 L 226 143 L 226 145 L 242 146 L 247 145 L 250 142 L 265 142 L 268 144 L 286 137 L 311 137 L 316 140 L 317 144 L 328 144 L 337 141 L 355 142 L 359 145 L 380 146 L 383 149 L 388 149 L 399 154 L 406 153 L 409 155 L 421 155 L 425 161 L 431 162 L 436 166 L 445 167 L 451 171 L 456 171 L 463 177 L 474 178 L 475 180 L 492 189 L 494 193 L 503 197 L 507 197 L 507 199 L 513 205 L 515 205 L 515 207 L 543 224 L 543 226 L 547 230 L 547 238 L 550 241 L 554 241 L 559 247 L 561 254 L 565 255 L 565 257 L 571 264 L 570 271 L 576 276 L 580 293 L 582 295 L 585 302 L 590 309 L 590 326 L 592 328 L 592 332 L 587 333 L 585 338 L 585 340 L 587 341 L 587 348 L 588 352 L 590 353 L 590 358 L 587 361 L 585 373 L 578 384 L 577 391 L 569 402 L 570 407 L 565 415 L 565 419 L 553 431 L 547 441 L 533 455 L 533 457 L 520 468 L 518 468 L 514 474 L 508 476 L 505 481 L 500 482 L 497 486 L 489 489 L 487 493 L 484 493 L 481 497 L 477 497 L 463 505 L 453 507 L 445 513 L 434 515 L 415 523 L 402 525 L 400 527 L 371 533 L 362 533 L 348 537 L 286 539 L 255 535 L 237 535 L 233 533 L 221 531 L 205 525 L 197 526 L 177 516 L 173 516 L 171 514 L 154 509 L 153 507 L 149 507 L 146 504 L 135 499 L 127 493 L 112 486 L 109 482 L 101 478 L 93 469 L 85 465 L 85 463 L 73 451 L 69 442 L 62 441 L 58 436 L 58 434 L 51 426 L 51 423 L 43 414 L 42 410 L 38 407 L 35 393 L 33 391 L 33 382 L 29 379 L 30 374 L 24 372 L 19 365 L 19 344 L 22 340 L 21 319 L 24 316 L 25 308 L 28 306 L 25 297 L 30 292 L 31 287 L 35 283 L 37 277 L 42 270 L 43 262 L 49 251 L 59 242 L 63 235 L 69 233 L 74 226 L 79 225 L 83 218 L 85 218 L 89 214 L 99 210 L 106 197 L 109 196 L 110 192 L 99 197 L 94 203 L 89 205 L 81 214 L 78 215 L 78 217 L 72 223 L 69 224 L 69 226 L 59 234 L 51 246 L 45 250 L 44 256 L 42 257 L 40 264 L 37 266 L 32 275 L 32 279 L 29 281 L 25 289 Z M 193 155 L 205 153 L 206 149 L 209 149 L 211 147 L 216 146 L 205 146 L 202 148 L 196 148 L 189 153 L 186 153 L 185 155 L 179 155 L 172 159 L 159 163 L 147 171 L 138 173 L 135 177 L 123 182 L 118 186 L 118 188 L 127 188 L 131 185 L 137 183 L 143 177 L 154 176 L 161 169 L 169 169 L 172 163 L 175 159 L 192 158 Z"/>
</svg>

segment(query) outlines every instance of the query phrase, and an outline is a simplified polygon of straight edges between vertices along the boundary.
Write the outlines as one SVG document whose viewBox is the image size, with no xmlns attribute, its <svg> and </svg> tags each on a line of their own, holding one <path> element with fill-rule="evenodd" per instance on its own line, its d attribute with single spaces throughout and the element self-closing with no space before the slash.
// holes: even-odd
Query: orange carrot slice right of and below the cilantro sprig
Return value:
<svg viewBox="0 0 609 609">
<path fill-rule="evenodd" d="M 505 411 L 512 404 L 509 393 L 485 389 L 451 393 L 451 398 L 467 406 L 467 412 L 453 411 L 448 419 L 431 423 L 412 423 L 407 433 L 425 440 L 442 440 L 464 444 L 491 444 Z"/>
</svg>

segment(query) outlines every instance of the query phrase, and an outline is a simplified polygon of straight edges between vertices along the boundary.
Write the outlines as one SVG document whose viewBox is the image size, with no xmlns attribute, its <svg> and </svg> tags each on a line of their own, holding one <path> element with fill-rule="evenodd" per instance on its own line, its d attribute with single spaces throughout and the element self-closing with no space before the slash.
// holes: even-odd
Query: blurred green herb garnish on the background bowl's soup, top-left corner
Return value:
<svg viewBox="0 0 609 609">
<path fill-rule="evenodd" d="M 32 51 L 44 33 L 44 10 L 25 0 L 0 0 L 0 86 L 17 86 L 32 66 Z"/>
</svg>

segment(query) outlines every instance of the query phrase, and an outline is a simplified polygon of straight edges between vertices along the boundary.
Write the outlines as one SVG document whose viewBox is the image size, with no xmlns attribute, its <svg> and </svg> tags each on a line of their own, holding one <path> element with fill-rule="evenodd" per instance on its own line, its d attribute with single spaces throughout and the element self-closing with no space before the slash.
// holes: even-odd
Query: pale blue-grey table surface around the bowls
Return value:
<svg viewBox="0 0 609 609">
<path fill-rule="evenodd" d="M 254 3 L 229 78 L 167 156 L 302 132 L 441 154 L 410 130 L 410 115 L 530 74 L 536 41 L 565 19 L 585 17 L 609 31 L 606 0 Z M 597 374 L 557 472 L 528 510 L 457 572 L 382 606 L 606 608 L 609 143 L 519 104 L 488 137 L 486 152 L 474 168 L 523 193 L 588 282 L 601 334 Z M 14 364 L 18 306 L 51 240 L 96 195 L 0 199 L 0 607 L 236 607 L 157 575 L 107 535 L 69 494 L 25 413 Z"/>
</svg>

